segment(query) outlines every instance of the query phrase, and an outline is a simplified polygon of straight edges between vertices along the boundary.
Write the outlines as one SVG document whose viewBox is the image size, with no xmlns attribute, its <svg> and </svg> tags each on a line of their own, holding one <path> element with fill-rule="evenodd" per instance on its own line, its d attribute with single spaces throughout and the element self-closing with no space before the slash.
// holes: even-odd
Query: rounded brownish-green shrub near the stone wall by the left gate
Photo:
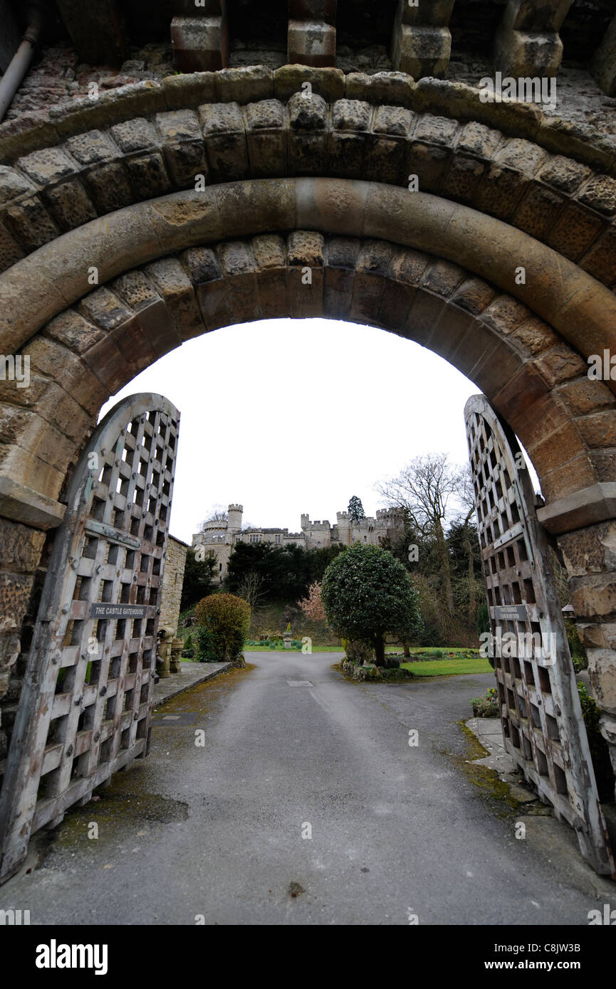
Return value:
<svg viewBox="0 0 616 989">
<path fill-rule="evenodd" d="M 200 663 L 236 663 L 251 623 L 251 606 L 235 594 L 211 594 L 195 608 L 197 659 Z"/>
</svg>

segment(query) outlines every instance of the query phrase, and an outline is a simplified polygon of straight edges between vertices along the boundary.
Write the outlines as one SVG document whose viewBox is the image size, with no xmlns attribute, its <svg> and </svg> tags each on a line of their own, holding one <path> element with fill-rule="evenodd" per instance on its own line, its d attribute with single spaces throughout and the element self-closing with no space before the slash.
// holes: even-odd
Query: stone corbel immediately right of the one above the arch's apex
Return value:
<svg viewBox="0 0 616 989">
<path fill-rule="evenodd" d="M 442 78 L 450 62 L 452 36 L 448 28 L 454 0 L 398 0 L 393 27 L 391 61 L 395 69 L 415 79 Z"/>
</svg>

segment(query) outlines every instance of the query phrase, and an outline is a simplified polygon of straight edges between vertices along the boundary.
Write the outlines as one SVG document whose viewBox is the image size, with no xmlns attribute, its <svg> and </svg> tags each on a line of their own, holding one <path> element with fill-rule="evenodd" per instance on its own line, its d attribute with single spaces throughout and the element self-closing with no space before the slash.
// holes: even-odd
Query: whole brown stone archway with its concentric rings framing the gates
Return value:
<svg viewBox="0 0 616 989">
<path fill-rule="evenodd" d="M 101 405 L 203 332 L 322 315 L 440 354 L 524 444 L 616 764 L 616 385 L 588 376 L 616 352 L 607 152 L 436 83 L 349 98 L 295 68 L 165 80 L 4 138 L 0 349 L 32 381 L 0 392 L 0 731 Z"/>
</svg>

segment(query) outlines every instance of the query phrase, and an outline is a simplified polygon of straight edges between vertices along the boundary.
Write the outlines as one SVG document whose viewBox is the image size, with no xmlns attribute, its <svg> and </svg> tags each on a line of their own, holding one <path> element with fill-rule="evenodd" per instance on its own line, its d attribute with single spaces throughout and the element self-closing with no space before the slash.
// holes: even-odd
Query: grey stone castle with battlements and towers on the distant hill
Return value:
<svg viewBox="0 0 616 989">
<path fill-rule="evenodd" d="M 206 522 L 203 531 L 196 532 L 192 537 L 193 550 L 203 547 L 206 553 L 214 553 L 218 567 L 214 580 L 218 584 L 227 575 L 229 557 L 237 542 L 273 543 L 275 546 L 295 543 L 305 549 L 316 550 L 336 544 L 352 546 L 357 542 L 378 546 L 381 538 L 388 536 L 390 539 L 397 539 L 404 532 L 402 508 L 379 508 L 375 518 L 366 516 L 354 522 L 348 511 L 338 511 L 335 525 L 330 525 L 327 519 L 311 521 L 309 515 L 302 514 L 301 532 L 277 528 L 243 529 L 243 512 L 244 505 L 230 504 L 224 521 Z"/>
</svg>

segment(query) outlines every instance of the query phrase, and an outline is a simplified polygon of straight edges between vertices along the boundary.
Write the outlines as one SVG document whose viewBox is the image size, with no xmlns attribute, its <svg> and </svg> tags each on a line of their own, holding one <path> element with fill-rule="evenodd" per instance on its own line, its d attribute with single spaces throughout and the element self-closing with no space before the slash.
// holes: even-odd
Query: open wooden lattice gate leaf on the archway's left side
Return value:
<svg viewBox="0 0 616 989">
<path fill-rule="evenodd" d="M 0 797 L 0 881 L 33 832 L 147 754 L 178 426 L 166 399 L 132 396 L 75 468 Z"/>
</svg>

